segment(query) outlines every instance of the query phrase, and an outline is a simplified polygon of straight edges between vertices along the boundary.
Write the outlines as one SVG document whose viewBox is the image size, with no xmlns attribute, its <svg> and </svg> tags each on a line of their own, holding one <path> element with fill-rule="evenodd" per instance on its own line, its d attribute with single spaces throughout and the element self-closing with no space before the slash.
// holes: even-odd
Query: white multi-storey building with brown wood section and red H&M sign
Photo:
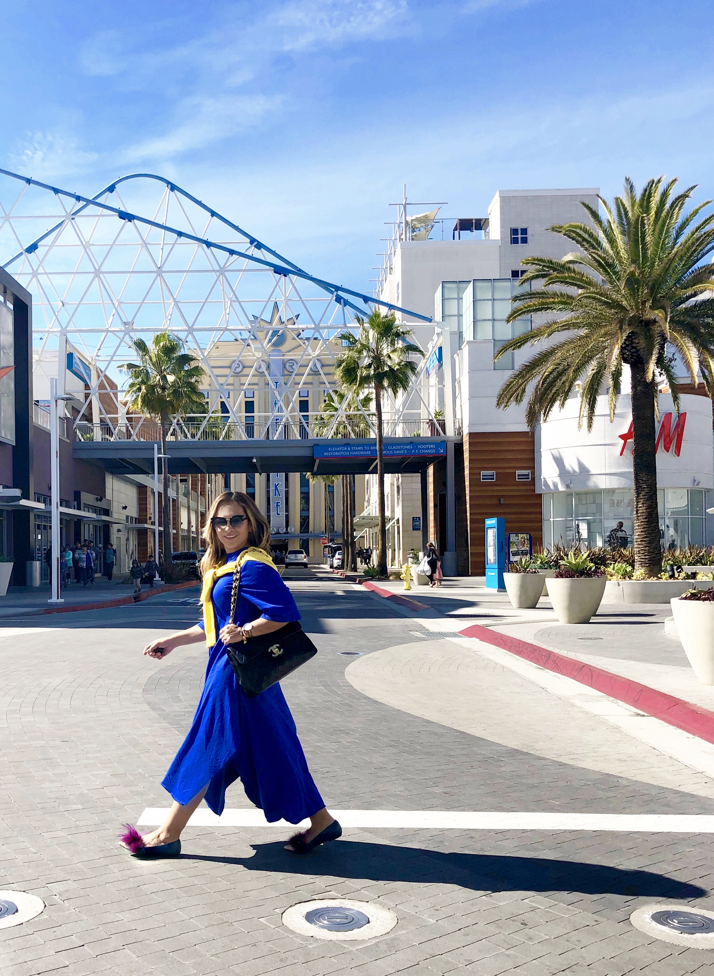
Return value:
<svg viewBox="0 0 714 976">
<path fill-rule="evenodd" d="M 593 429 L 578 429 L 578 391 L 562 412 L 534 432 L 525 404 L 496 408 L 496 396 L 533 347 L 494 362 L 500 345 L 529 331 L 524 318 L 507 324 L 511 297 L 522 287 L 523 259 L 561 258 L 573 245 L 548 230 L 586 222 L 581 201 L 597 207 L 596 188 L 499 190 L 487 218 L 436 220 L 430 237 L 412 235 L 408 211 L 399 211 L 395 241 L 379 280 L 380 297 L 441 325 L 441 369 L 432 379 L 432 406 L 444 410 L 445 433 L 455 435 L 454 474 L 444 462 L 430 473 L 429 535 L 441 552 L 455 548 L 460 573 L 483 573 L 483 520 L 503 516 L 507 532 L 530 532 L 534 545 L 599 546 L 622 522 L 632 544 L 633 478 L 629 377 L 614 421 L 606 390 Z M 422 222 L 423 224 L 423 222 Z M 420 227 L 422 224 L 419 224 Z M 444 222 L 445 224 L 445 222 Z M 463 234 L 464 227 L 472 233 Z M 435 236 L 446 239 L 433 239 Z M 457 233 L 461 239 L 457 238 Z M 414 239 L 417 237 L 417 239 Z M 405 321 L 409 321 L 405 316 Z M 417 323 L 409 323 L 424 342 Z M 537 347 L 536 347 L 537 348 Z M 701 385 L 683 376 L 681 415 L 669 390 L 659 396 L 657 484 L 663 548 L 714 542 L 705 509 L 714 505 L 712 403 Z M 405 520 L 409 512 L 402 512 Z M 413 514 L 420 514 L 415 510 Z M 710 516 L 711 518 L 711 516 Z"/>
</svg>

